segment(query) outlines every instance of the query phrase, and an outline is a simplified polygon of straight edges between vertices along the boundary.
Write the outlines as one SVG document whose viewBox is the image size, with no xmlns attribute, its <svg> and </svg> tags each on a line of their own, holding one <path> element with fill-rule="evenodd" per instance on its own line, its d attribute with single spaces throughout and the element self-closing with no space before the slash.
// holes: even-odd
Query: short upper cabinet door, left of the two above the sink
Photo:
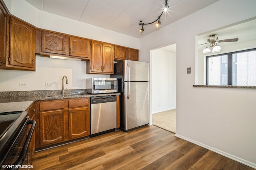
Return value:
<svg viewBox="0 0 256 170">
<path fill-rule="evenodd" d="M 42 31 L 42 52 L 66 55 L 66 43 L 66 35 Z"/>
</svg>

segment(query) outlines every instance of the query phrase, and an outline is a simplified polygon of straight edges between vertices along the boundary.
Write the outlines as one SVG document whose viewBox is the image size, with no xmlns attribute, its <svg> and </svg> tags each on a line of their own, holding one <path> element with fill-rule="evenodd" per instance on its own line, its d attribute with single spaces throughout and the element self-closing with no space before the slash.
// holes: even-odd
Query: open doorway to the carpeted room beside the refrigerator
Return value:
<svg viewBox="0 0 256 170">
<path fill-rule="evenodd" d="M 176 44 L 151 52 L 152 124 L 176 133 Z"/>
</svg>

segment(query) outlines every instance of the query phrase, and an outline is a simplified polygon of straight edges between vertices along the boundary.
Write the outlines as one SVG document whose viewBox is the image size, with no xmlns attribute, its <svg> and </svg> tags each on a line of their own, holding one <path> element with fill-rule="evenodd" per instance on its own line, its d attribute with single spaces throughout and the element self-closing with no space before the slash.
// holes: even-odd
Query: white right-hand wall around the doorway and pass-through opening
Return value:
<svg viewBox="0 0 256 170">
<path fill-rule="evenodd" d="M 150 50 L 176 43 L 176 136 L 254 168 L 256 90 L 194 88 L 193 84 L 196 35 L 253 18 L 255 6 L 255 0 L 220 0 L 141 38 L 139 52 L 140 60 L 148 62 Z M 186 74 L 187 67 L 191 67 L 191 74 Z"/>
</svg>

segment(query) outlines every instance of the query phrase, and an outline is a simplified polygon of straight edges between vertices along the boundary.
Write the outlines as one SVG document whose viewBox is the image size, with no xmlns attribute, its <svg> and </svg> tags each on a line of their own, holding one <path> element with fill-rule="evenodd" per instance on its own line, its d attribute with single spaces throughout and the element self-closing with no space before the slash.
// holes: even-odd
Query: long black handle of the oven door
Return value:
<svg viewBox="0 0 256 170">
<path fill-rule="evenodd" d="M 36 121 L 34 120 L 28 120 L 27 122 L 27 125 L 32 125 L 29 132 L 28 132 L 28 136 L 26 138 L 26 141 L 22 147 L 22 150 L 20 152 L 20 156 L 19 158 L 16 160 L 16 162 L 14 162 L 14 165 L 21 165 L 23 163 L 23 161 L 25 160 L 26 158 L 26 155 L 27 155 L 27 151 L 28 151 L 28 147 L 29 147 L 29 143 L 30 143 L 30 139 L 32 137 L 32 134 L 33 134 L 33 131 L 34 131 L 34 128 L 35 128 L 35 125 L 36 125 Z M 15 170 L 16 168 L 14 168 Z"/>
</svg>

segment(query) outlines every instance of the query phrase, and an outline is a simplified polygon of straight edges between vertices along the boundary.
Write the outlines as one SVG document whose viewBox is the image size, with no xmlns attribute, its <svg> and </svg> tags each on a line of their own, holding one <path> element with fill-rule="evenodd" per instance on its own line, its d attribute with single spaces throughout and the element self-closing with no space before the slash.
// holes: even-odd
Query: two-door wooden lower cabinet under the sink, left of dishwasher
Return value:
<svg viewBox="0 0 256 170">
<path fill-rule="evenodd" d="M 36 149 L 90 135 L 90 98 L 39 102 Z"/>
</svg>

